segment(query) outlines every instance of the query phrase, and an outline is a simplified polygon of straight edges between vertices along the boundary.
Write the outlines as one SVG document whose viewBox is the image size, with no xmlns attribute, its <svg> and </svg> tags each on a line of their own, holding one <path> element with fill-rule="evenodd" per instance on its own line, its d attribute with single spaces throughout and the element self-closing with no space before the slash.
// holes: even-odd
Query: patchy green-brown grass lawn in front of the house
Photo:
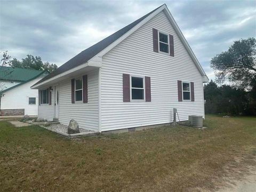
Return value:
<svg viewBox="0 0 256 192">
<path fill-rule="evenodd" d="M 0 191 L 213 190 L 237 157 L 256 157 L 256 117 L 204 124 L 69 140 L 0 121 Z"/>
</svg>

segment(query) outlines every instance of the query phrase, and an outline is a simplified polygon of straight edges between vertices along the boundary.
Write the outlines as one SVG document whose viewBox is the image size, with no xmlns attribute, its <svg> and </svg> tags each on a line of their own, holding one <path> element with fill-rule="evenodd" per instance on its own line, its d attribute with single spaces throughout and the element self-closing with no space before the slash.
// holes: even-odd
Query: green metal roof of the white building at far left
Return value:
<svg viewBox="0 0 256 192">
<path fill-rule="evenodd" d="M 0 80 L 28 81 L 42 73 L 42 70 L 0 66 Z"/>
</svg>

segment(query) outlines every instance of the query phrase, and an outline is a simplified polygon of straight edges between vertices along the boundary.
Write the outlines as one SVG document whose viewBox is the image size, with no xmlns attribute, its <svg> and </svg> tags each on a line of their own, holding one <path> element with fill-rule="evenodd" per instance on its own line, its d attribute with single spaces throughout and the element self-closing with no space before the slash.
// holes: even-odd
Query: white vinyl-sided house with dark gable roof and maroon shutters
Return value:
<svg viewBox="0 0 256 192">
<path fill-rule="evenodd" d="M 166 5 L 82 51 L 33 85 L 38 116 L 92 131 L 204 116 L 203 68 Z M 50 93 L 50 94 L 48 94 Z M 50 97 L 49 97 L 50 95 Z"/>
</svg>

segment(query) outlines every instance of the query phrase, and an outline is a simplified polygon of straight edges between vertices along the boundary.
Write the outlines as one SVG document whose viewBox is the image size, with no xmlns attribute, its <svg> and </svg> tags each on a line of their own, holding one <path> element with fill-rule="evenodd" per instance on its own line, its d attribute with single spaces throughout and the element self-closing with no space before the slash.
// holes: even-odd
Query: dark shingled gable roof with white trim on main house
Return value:
<svg viewBox="0 0 256 192">
<path fill-rule="evenodd" d="M 53 73 L 51 73 L 51 74 L 47 75 L 46 77 L 42 78 L 41 81 L 37 82 L 35 85 L 41 84 L 41 83 L 43 83 L 44 81 L 46 81 L 48 79 L 51 79 L 51 78 L 53 78 L 53 77 L 55 77 L 59 74 L 64 73 L 65 71 L 68 71 L 70 69 L 78 67 L 79 65 L 82 65 L 82 64 L 90 61 L 92 58 L 97 57 L 97 55 L 101 56 L 101 55 L 105 54 L 106 52 L 109 51 L 109 47 L 113 47 L 116 44 L 118 44 L 118 42 L 121 42 L 122 39 L 126 38 L 131 33 L 133 33 L 133 31 L 137 30 L 138 27 L 142 26 L 143 22 L 144 23 L 147 22 L 152 17 L 154 17 L 157 13 L 159 13 L 163 10 L 166 10 L 167 16 L 169 17 L 172 25 L 174 25 L 173 27 L 177 31 L 177 34 L 179 35 L 179 37 L 181 37 L 181 41 L 182 41 L 183 44 L 185 44 L 185 47 L 188 50 L 190 56 L 193 58 L 194 62 L 196 63 L 198 70 L 200 71 L 202 76 L 206 76 L 203 68 L 200 66 L 198 60 L 195 57 L 195 54 L 193 53 L 193 51 L 189 47 L 185 37 L 181 33 L 177 23 L 174 21 L 174 19 L 171 15 L 170 11 L 168 10 L 166 4 L 163 4 L 159 7 L 157 7 L 155 10 L 153 10 L 153 11 L 147 13 L 146 15 L 144 15 L 143 17 L 139 18 L 138 20 L 136 20 L 136 21 L 130 23 L 129 25 L 125 26 L 124 28 L 116 31 L 114 34 L 102 39 L 100 42 L 90 46 L 86 50 L 77 54 L 75 57 L 71 58 L 66 63 L 64 63 L 62 66 L 60 66 Z M 102 53 L 102 54 L 99 54 L 99 53 Z M 32 87 L 34 87 L 35 85 L 33 85 Z"/>
</svg>

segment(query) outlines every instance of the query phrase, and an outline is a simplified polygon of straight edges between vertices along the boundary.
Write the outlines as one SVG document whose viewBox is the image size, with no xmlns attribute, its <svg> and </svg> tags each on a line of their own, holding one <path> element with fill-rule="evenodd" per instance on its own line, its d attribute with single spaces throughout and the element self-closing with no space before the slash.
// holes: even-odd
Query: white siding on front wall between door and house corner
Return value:
<svg viewBox="0 0 256 192">
<path fill-rule="evenodd" d="M 74 118 L 81 128 L 99 130 L 98 84 L 98 70 L 87 73 L 88 102 L 71 103 L 71 78 L 59 83 L 59 122 L 61 124 L 68 125 Z"/>
</svg>

